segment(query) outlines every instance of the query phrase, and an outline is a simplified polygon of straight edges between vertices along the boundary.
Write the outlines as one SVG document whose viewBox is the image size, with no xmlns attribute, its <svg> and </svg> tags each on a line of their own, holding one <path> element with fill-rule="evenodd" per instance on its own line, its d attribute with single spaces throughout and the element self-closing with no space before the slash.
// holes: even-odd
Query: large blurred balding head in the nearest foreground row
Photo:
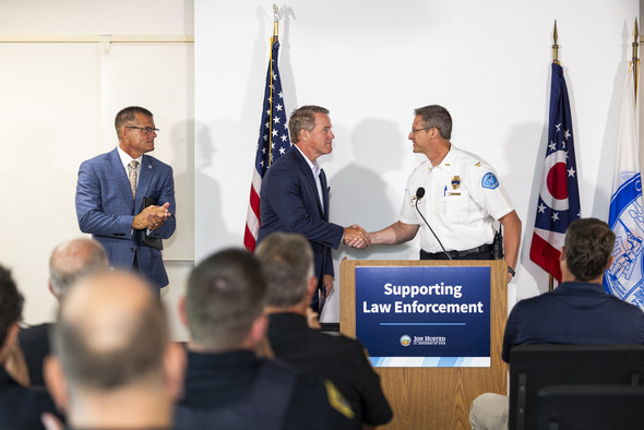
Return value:
<svg viewBox="0 0 644 430">
<path fill-rule="evenodd" d="M 166 315 L 152 287 L 134 275 L 104 272 L 81 279 L 61 302 L 51 341 L 72 389 L 164 383 Z"/>
</svg>

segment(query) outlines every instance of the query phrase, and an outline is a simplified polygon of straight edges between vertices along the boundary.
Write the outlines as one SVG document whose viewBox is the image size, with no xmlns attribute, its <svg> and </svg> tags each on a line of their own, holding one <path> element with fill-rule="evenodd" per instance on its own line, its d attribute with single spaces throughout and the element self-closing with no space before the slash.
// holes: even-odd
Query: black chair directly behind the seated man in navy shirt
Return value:
<svg viewBox="0 0 644 430">
<path fill-rule="evenodd" d="M 642 345 L 520 345 L 510 350 L 510 430 L 537 429 L 537 395 L 548 385 L 641 385 Z"/>
</svg>

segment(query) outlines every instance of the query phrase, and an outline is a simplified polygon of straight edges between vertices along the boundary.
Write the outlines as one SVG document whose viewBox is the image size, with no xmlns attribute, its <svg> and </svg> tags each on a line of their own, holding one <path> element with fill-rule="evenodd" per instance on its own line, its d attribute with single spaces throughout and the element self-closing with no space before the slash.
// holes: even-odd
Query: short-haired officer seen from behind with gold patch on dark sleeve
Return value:
<svg viewBox="0 0 644 430">
<path fill-rule="evenodd" d="M 343 429 L 353 411 L 334 385 L 305 381 L 285 363 L 259 358 L 266 283 L 245 250 L 201 262 L 179 314 L 190 333 L 177 429 Z"/>
</svg>

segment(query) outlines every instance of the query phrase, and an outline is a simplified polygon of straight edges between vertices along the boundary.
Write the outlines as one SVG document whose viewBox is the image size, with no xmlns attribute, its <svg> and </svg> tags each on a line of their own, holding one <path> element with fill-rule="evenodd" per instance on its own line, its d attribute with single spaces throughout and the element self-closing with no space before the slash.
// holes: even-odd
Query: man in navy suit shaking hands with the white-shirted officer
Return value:
<svg viewBox="0 0 644 430">
<path fill-rule="evenodd" d="M 273 231 L 303 235 L 313 248 L 318 289 L 325 298 L 333 289 L 331 249 L 337 249 L 343 238 L 345 242 L 357 239 L 357 246 L 363 247 L 365 230 L 329 223 L 329 186 L 318 164 L 318 157 L 333 151 L 329 110 L 302 106 L 290 115 L 288 130 L 294 145 L 262 181 L 258 246 Z M 321 311 L 318 295 L 313 295 L 312 307 Z"/>
</svg>

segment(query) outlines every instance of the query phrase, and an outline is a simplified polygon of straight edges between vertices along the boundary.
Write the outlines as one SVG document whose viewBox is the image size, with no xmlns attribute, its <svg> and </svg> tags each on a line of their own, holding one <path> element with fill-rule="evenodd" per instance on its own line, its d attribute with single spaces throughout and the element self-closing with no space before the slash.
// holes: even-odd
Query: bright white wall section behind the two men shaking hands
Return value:
<svg viewBox="0 0 644 430">
<path fill-rule="evenodd" d="M 195 1 L 195 255 L 241 246 L 272 34 L 272 4 Z M 637 0 L 293 0 L 281 4 L 279 68 L 288 111 L 331 109 L 333 154 L 320 159 L 331 219 L 369 230 L 396 220 L 422 157 L 407 134 L 413 109 L 452 112 L 452 142 L 498 170 L 523 220 L 511 301 L 547 289 L 529 261 L 541 182 L 552 28 L 574 120 L 582 215 L 606 219 L 620 88 Z M 351 251 L 415 259 L 418 243 Z"/>
</svg>

